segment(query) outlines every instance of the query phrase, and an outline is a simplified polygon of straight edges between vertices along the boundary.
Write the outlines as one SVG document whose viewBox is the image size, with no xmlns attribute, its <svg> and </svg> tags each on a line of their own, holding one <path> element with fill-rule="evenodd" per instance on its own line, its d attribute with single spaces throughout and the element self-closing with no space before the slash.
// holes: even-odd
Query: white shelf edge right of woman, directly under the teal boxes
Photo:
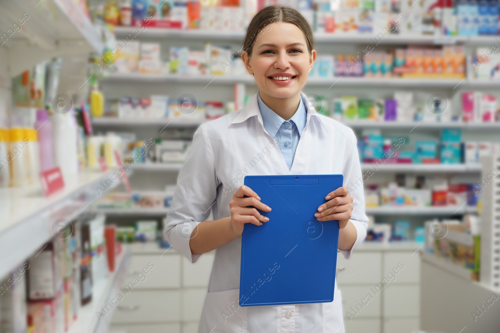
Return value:
<svg viewBox="0 0 500 333">
<path fill-rule="evenodd" d="M 383 161 L 383 159 L 382 159 Z M 450 172 L 450 173 L 479 173 L 480 164 L 402 164 L 402 163 L 362 163 L 361 170 L 373 172 Z"/>
</svg>

